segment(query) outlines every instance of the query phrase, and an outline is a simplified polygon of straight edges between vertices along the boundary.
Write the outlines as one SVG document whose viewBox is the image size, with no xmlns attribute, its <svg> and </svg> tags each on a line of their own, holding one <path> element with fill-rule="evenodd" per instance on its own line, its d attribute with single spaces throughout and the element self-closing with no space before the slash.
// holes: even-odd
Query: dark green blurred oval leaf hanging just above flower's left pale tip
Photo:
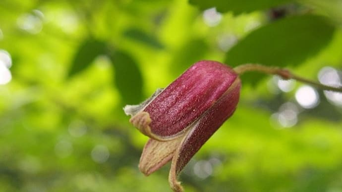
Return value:
<svg viewBox="0 0 342 192">
<path fill-rule="evenodd" d="M 136 61 L 126 52 L 116 50 L 111 55 L 115 68 L 115 85 L 125 103 L 138 103 L 142 99 L 143 80 Z"/>
</svg>

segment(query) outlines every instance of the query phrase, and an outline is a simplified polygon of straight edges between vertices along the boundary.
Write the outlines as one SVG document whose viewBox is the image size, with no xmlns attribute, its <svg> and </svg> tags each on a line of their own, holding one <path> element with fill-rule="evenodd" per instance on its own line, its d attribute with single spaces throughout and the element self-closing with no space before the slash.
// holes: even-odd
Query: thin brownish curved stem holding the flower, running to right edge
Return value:
<svg viewBox="0 0 342 192">
<path fill-rule="evenodd" d="M 248 63 L 248 64 L 242 64 L 242 65 L 235 67 L 234 71 L 239 75 L 242 75 L 243 73 L 248 72 L 248 71 L 258 71 L 258 72 L 271 74 L 271 75 L 279 75 L 285 80 L 294 79 L 294 80 L 315 86 L 315 87 L 323 89 L 323 90 L 334 91 L 334 92 L 342 92 L 341 86 L 340 87 L 331 87 L 331 86 L 323 85 L 321 83 L 314 82 L 312 80 L 308 80 L 308 79 L 296 76 L 296 75 L 292 74 L 290 71 L 288 71 L 287 69 L 283 69 L 283 68 L 279 68 L 279 67 L 268 67 L 268 66 L 264 66 L 261 64 L 250 64 L 250 63 Z"/>
</svg>

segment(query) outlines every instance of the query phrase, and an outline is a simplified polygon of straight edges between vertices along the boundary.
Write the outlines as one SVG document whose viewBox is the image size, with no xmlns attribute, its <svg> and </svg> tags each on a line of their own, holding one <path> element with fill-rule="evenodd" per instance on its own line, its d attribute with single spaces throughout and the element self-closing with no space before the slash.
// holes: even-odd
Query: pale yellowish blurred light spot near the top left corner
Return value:
<svg viewBox="0 0 342 192">
<path fill-rule="evenodd" d="M 21 15 L 17 19 L 17 25 L 20 29 L 31 34 L 38 34 L 43 29 L 44 14 L 42 11 L 34 9 L 31 13 Z"/>
</svg>

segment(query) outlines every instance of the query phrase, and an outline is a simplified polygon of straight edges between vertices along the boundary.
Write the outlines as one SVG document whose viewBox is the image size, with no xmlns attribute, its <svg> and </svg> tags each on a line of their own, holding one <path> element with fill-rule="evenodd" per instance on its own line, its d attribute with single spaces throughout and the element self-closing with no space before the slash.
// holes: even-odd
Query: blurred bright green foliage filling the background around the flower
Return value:
<svg viewBox="0 0 342 192">
<path fill-rule="evenodd" d="M 139 172 L 147 138 L 122 107 L 202 59 L 310 79 L 341 70 L 341 3 L 1 0 L 12 80 L 0 85 L 0 191 L 166 191 L 168 168 Z M 279 82 L 243 76 L 234 115 L 181 175 L 186 191 L 342 191 L 342 102 L 318 90 L 319 104 L 305 108 L 301 85 L 283 92 Z"/>
</svg>

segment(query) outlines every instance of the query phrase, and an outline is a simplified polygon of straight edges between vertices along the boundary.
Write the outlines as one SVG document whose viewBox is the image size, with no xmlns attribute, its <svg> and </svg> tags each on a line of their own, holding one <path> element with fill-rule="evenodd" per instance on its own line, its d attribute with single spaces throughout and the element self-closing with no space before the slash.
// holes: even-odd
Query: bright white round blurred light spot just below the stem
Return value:
<svg viewBox="0 0 342 192">
<path fill-rule="evenodd" d="M 300 106 L 311 109 L 318 105 L 319 96 L 317 91 L 310 86 L 300 87 L 295 94 L 295 98 Z"/>
</svg>

